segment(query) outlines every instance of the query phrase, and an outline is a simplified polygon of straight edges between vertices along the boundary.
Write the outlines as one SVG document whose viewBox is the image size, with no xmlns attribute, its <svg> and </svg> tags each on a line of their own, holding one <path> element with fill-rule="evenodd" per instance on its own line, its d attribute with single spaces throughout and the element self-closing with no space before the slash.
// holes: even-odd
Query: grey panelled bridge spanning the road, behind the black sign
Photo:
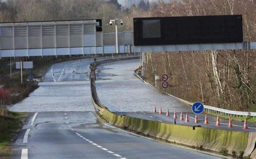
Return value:
<svg viewBox="0 0 256 159">
<path fill-rule="evenodd" d="M 255 49 L 256 42 L 134 45 L 138 31 L 118 33 L 118 53 Z M 142 39 L 145 40 L 145 39 Z M 146 40 L 145 40 L 146 41 Z M 116 33 L 103 33 L 101 20 L 0 24 L 0 58 L 116 53 Z"/>
</svg>

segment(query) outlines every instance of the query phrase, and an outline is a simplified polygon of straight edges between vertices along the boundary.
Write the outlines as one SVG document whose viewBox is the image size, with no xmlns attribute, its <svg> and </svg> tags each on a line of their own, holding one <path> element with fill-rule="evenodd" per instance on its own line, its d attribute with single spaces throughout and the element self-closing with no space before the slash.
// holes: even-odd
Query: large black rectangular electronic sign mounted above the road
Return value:
<svg viewBox="0 0 256 159">
<path fill-rule="evenodd" d="M 133 18 L 134 45 L 242 42 L 242 16 Z"/>
</svg>

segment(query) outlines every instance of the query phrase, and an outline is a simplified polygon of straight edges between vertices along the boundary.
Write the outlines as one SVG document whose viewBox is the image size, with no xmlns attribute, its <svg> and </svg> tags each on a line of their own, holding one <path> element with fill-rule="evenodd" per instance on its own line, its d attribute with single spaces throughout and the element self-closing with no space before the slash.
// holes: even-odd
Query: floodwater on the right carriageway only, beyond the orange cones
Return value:
<svg viewBox="0 0 256 159">
<path fill-rule="evenodd" d="M 133 71 L 138 66 L 139 59 L 105 63 L 97 68 L 100 74 L 111 74 L 102 78 L 105 80 L 96 81 L 98 97 L 105 106 L 114 112 L 152 112 L 154 104 L 163 107 L 163 111 L 167 107 L 170 111 L 191 111 L 189 106 L 134 76 Z"/>
</svg>

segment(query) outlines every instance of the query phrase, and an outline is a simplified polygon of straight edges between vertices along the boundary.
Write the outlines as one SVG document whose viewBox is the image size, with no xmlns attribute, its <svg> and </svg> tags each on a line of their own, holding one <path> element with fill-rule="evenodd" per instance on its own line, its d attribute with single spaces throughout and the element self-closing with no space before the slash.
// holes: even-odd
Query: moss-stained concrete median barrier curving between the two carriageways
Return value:
<svg viewBox="0 0 256 159">
<path fill-rule="evenodd" d="M 129 57 L 99 61 L 91 65 L 91 67 L 97 67 L 99 64 L 106 62 L 130 59 L 131 58 Z M 110 122 L 112 125 L 129 129 L 130 131 L 139 132 L 147 136 L 153 136 L 155 138 L 197 149 L 219 152 L 220 149 L 225 148 L 228 150 L 229 154 L 231 154 L 233 150 L 237 153 L 239 153 L 239 151 L 245 151 L 245 154 L 251 154 L 253 151 L 252 147 L 255 146 L 255 144 L 251 142 L 252 138 L 250 137 L 255 135 L 255 133 L 235 132 L 203 127 L 197 127 L 193 130 L 192 126 L 172 125 L 164 122 L 114 114 L 110 112 L 106 106 L 100 103 L 96 92 L 94 78 L 91 79 L 91 95 L 96 111 L 106 121 Z"/>
</svg>

